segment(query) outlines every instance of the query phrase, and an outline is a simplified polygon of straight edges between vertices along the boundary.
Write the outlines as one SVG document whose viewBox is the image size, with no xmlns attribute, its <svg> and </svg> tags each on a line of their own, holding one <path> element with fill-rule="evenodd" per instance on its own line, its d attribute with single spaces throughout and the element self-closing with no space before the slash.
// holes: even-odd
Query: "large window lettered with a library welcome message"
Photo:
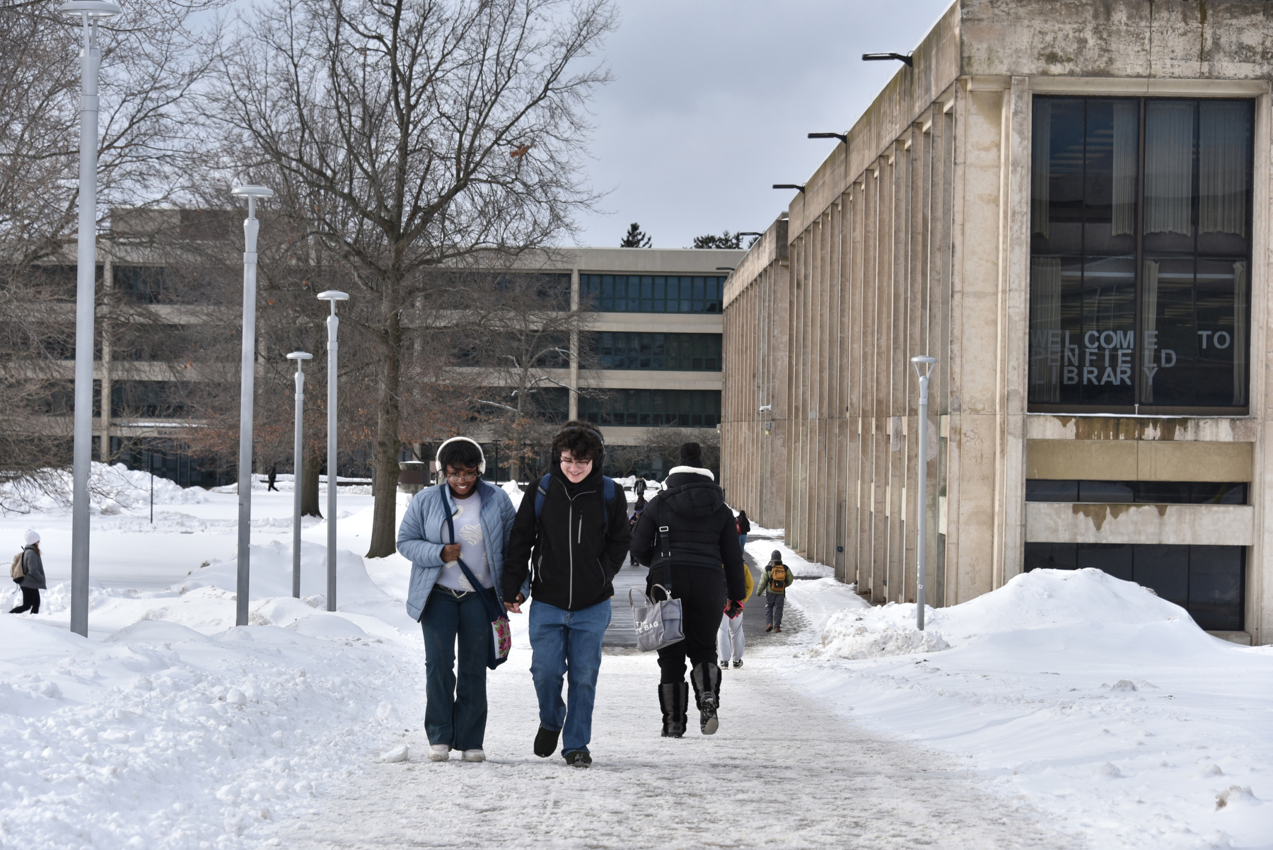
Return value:
<svg viewBox="0 0 1273 850">
<path fill-rule="evenodd" d="M 1248 406 L 1250 101 L 1034 102 L 1030 406 Z"/>
</svg>

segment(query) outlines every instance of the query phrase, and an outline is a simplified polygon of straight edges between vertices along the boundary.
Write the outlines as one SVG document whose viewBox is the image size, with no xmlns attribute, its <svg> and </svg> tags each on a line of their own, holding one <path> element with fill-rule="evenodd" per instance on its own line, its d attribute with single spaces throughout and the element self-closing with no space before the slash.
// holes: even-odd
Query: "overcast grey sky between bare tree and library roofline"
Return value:
<svg viewBox="0 0 1273 850">
<path fill-rule="evenodd" d="M 606 41 L 588 176 L 610 193 L 579 244 L 617 246 L 631 221 L 656 248 L 764 230 L 896 73 L 950 0 L 620 0 Z"/>
</svg>

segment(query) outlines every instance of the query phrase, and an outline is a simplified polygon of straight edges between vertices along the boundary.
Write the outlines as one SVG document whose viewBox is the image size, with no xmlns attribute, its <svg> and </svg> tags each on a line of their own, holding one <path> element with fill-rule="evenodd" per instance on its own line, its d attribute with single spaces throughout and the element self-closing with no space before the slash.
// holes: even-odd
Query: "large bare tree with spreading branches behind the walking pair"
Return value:
<svg viewBox="0 0 1273 850">
<path fill-rule="evenodd" d="M 348 270 L 345 321 L 378 344 L 369 556 L 395 551 L 425 272 L 516 258 L 592 202 L 584 106 L 606 74 L 589 57 L 614 20 L 606 0 L 284 0 L 223 43 L 209 117 L 250 151 L 243 174 L 297 199 Z"/>
</svg>

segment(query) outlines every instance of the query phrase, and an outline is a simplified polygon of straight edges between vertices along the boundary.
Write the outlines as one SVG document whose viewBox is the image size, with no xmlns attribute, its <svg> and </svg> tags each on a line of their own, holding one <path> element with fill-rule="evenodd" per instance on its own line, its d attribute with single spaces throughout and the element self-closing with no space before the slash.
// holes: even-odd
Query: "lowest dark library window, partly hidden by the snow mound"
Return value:
<svg viewBox="0 0 1273 850">
<path fill-rule="evenodd" d="M 1208 631 L 1242 631 L 1246 547 L 1026 543 L 1026 570 L 1096 568 L 1153 588 Z"/>
</svg>

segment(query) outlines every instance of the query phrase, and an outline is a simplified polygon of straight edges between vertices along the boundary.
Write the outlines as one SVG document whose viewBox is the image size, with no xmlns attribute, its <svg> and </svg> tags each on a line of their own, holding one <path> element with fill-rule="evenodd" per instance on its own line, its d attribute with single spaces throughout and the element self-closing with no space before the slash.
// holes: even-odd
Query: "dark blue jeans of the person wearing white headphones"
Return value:
<svg viewBox="0 0 1273 850">
<path fill-rule="evenodd" d="M 454 598 L 440 584 L 429 593 L 424 629 L 424 732 L 430 744 L 481 749 L 486 735 L 486 657 L 490 620 L 476 593 Z M 460 676 L 456 677 L 456 644 Z"/>
</svg>

